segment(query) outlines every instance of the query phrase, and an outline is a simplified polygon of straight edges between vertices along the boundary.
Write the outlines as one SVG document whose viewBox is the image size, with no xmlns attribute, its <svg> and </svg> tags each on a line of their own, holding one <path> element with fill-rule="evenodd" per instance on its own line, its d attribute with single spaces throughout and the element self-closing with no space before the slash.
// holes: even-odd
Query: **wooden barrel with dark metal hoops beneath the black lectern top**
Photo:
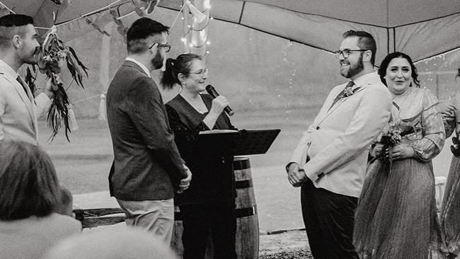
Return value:
<svg viewBox="0 0 460 259">
<path fill-rule="evenodd" d="M 259 219 L 251 175 L 251 163 L 247 157 L 234 158 L 235 188 L 236 188 L 236 255 L 238 259 L 256 259 L 259 255 Z M 183 255 L 180 209 L 175 207 L 176 221 L 174 222 L 171 247 Z M 206 258 L 213 258 L 212 236 L 207 241 Z"/>
</svg>

